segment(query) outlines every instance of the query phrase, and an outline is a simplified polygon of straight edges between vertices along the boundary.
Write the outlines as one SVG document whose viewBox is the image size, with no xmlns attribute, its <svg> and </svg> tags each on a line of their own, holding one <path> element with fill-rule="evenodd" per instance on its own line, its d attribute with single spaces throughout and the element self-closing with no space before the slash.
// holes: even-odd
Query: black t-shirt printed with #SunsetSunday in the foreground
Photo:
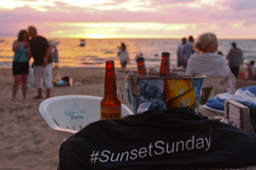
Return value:
<svg viewBox="0 0 256 170">
<path fill-rule="evenodd" d="M 67 139 L 60 170 L 167 170 L 256 165 L 256 133 L 190 107 L 93 122 Z"/>
</svg>

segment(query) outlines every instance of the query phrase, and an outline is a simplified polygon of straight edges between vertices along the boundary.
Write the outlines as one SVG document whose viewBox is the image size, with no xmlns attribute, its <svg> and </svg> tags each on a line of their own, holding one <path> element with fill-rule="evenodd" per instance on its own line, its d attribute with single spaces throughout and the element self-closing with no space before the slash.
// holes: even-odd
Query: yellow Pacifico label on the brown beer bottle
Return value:
<svg viewBox="0 0 256 170">
<path fill-rule="evenodd" d="M 121 119 L 121 108 L 100 107 L 100 119 Z"/>
</svg>

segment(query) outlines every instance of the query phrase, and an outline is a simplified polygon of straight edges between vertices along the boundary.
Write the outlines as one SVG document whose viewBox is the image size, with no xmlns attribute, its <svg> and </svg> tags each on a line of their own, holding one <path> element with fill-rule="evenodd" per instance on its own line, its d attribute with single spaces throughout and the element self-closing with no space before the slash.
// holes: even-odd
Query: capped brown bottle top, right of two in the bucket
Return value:
<svg viewBox="0 0 256 170">
<path fill-rule="evenodd" d="M 171 76 L 171 66 L 170 66 L 170 53 L 163 52 L 160 64 L 160 77 L 170 77 Z"/>
</svg>

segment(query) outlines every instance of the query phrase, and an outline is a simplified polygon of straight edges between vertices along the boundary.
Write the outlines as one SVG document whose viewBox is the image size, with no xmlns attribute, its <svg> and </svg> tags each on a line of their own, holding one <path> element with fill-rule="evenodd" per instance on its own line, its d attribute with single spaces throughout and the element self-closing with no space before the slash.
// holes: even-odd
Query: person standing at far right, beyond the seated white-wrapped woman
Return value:
<svg viewBox="0 0 256 170">
<path fill-rule="evenodd" d="M 235 77 L 238 77 L 239 65 L 243 64 L 243 53 L 236 47 L 236 42 L 232 43 L 232 48 L 230 48 L 229 53 L 227 54 L 228 65 Z"/>
</svg>

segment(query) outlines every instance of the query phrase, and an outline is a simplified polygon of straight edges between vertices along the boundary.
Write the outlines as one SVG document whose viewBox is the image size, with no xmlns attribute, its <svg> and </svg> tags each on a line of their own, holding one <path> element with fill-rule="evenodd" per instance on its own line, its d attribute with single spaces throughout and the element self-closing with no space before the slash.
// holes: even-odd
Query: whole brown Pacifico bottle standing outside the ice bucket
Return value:
<svg viewBox="0 0 256 170">
<path fill-rule="evenodd" d="M 106 61 L 104 96 L 100 103 L 101 119 L 121 119 L 121 101 L 116 93 L 113 60 Z"/>
</svg>

